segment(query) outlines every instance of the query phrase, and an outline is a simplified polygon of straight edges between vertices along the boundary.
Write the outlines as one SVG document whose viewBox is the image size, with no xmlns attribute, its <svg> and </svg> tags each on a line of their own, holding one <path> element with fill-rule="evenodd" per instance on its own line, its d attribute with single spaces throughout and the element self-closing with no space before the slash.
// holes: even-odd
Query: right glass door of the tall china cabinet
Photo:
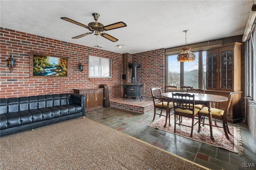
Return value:
<svg viewBox="0 0 256 170">
<path fill-rule="evenodd" d="M 220 89 L 232 90 L 232 63 L 232 51 L 220 52 L 220 67 L 218 69 L 220 73 Z"/>
</svg>

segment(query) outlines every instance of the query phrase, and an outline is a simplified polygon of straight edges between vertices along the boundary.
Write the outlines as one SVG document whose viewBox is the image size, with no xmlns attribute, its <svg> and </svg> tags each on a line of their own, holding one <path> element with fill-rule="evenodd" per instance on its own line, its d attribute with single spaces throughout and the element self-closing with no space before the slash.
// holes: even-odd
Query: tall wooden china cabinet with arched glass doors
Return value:
<svg viewBox="0 0 256 170">
<path fill-rule="evenodd" d="M 233 100 L 227 113 L 228 122 L 234 123 L 241 116 L 241 45 L 230 43 L 207 50 L 206 93 L 228 97 L 233 92 Z M 216 103 L 215 107 L 226 108 L 227 102 Z"/>
</svg>

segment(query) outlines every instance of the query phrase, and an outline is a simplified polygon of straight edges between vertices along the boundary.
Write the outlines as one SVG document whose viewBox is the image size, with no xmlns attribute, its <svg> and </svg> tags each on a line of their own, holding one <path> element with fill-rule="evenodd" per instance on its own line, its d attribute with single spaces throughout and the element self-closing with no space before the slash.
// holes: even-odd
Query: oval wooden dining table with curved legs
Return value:
<svg viewBox="0 0 256 170">
<path fill-rule="evenodd" d="M 174 92 L 174 93 L 186 93 L 186 92 Z M 192 93 L 191 93 L 192 94 Z M 200 93 L 194 93 L 195 94 L 195 104 L 206 104 L 209 111 L 209 125 L 210 125 L 210 137 L 213 140 L 214 137 L 212 135 L 212 102 L 226 102 L 228 101 L 228 98 L 225 96 L 219 96 L 214 94 L 200 94 Z M 168 102 L 168 105 L 170 102 L 172 102 L 172 92 L 168 93 L 162 93 L 162 97 Z M 169 113 L 169 107 L 166 109 L 166 121 L 165 125 L 167 124 L 167 117 Z"/>
</svg>

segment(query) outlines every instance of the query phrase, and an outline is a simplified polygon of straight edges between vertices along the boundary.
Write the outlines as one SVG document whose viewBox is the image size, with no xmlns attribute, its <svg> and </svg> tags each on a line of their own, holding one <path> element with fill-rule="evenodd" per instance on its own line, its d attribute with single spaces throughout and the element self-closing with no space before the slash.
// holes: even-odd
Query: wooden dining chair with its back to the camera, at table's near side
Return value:
<svg viewBox="0 0 256 170">
<path fill-rule="evenodd" d="M 172 93 L 173 105 L 174 105 L 174 133 L 176 133 L 176 124 L 191 127 L 191 134 L 190 137 L 193 135 L 194 125 L 198 123 L 198 120 L 194 122 L 194 119 L 199 109 L 195 108 L 195 95 L 194 94 L 181 94 L 181 93 Z M 175 104 L 174 104 L 175 103 Z M 192 104 L 192 106 L 191 106 Z M 184 125 L 181 124 L 180 117 L 188 117 L 192 120 L 192 125 Z M 179 123 L 177 121 L 179 120 Z"/>
</svg>

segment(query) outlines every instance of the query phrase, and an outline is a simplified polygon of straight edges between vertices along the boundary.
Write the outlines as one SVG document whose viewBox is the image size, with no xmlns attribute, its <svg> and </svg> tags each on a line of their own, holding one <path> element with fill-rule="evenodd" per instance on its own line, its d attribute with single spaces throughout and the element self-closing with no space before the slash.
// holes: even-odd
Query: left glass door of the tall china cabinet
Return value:
<svg viewBox="0 0 256 170">
<path fill-rule="evenodd" d="M 217 53 L 210 52 L 207 56 L 207 88 L 217 88 Z"/>
</svg>

